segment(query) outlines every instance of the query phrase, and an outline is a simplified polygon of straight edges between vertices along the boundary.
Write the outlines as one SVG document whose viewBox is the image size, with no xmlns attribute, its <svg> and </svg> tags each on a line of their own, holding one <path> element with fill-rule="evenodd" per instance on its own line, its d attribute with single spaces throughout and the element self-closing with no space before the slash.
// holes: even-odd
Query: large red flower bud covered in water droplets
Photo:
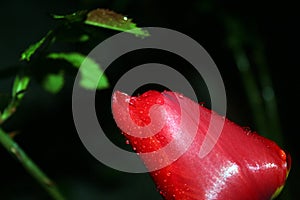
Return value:
<svg viewBox="0 0 300 200">
<path fill-rule="evenodd" d="M 116 92 L 112 111 L 167 200 L 264 200 L 283 188 L 289 155 L 273 141 L 187 97 L 174 92 L 148 91 L 138 97 Z M 218 138 L 208 134 L 211 117 L 224 122 Z M 200 156 L 206 137 L 215 145 Z"/>
</svg>

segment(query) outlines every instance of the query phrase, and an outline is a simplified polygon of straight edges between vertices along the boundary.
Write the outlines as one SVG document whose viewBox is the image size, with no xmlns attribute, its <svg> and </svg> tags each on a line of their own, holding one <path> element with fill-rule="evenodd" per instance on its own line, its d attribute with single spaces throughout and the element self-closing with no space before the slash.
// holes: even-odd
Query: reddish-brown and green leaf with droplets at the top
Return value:
<svg viewBox="0 0 300 200">
<path fill-rule="evenodd" d="M 146 30 L 138 28 L 131 19 L 107 9 L 98 8 L 90 11 L 87 14 L 85 23 L 102 28 L 129 32 L 136 36 L 149 36 L 149 33 Z"/>
</svg>

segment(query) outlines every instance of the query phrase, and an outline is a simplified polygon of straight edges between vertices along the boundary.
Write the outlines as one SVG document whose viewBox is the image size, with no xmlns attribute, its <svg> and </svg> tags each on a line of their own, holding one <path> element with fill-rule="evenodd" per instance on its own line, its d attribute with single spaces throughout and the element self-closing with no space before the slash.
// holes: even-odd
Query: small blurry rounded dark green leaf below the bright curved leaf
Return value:
<svg viewBox="0 0 300 200">
<path fill-rule="evenodd" d="M 64 73 L 60 71 L 58 74 L 47 74 L 43 80 L 43 87 L 53 94 L 58 93 L 64 85 Z"/>
</svg>

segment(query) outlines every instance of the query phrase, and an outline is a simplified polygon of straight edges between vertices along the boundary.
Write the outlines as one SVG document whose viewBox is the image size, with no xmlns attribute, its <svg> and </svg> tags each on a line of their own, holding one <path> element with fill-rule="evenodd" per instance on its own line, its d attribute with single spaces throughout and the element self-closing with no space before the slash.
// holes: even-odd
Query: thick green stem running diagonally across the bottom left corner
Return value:
<svg viewBox="0 0 300 200">
<path fill-rule="evenodd" d="M 13 141 L 13 139 L 9 137 L 8 134 L 5 133 L 1 128 L 0 143 L 23 165 L 27 172 L 40 183 L 40 185 L 49 193 L 49 195 L 53 199 L 65 199 L 59 192 L 58 188 L 55 186 L 54 182 L 47 177 L 47 175 L 26 155 L 26 153 L 19 147 L 19 145 L 15 141 Z"/>
</svg>

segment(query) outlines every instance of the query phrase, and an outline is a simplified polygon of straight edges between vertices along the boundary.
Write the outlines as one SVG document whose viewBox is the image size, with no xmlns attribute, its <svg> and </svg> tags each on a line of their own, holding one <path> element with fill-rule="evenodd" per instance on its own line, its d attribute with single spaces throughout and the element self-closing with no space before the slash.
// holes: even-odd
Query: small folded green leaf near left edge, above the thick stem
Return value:
<svg viewBox="0 0 300 200">
<path fill-rule="evenodd" d="M 28 76 L 16 76 L 12 88 L 12 97 L 22 99 L 27 89 L 30 78 Z"/>
</svg>

